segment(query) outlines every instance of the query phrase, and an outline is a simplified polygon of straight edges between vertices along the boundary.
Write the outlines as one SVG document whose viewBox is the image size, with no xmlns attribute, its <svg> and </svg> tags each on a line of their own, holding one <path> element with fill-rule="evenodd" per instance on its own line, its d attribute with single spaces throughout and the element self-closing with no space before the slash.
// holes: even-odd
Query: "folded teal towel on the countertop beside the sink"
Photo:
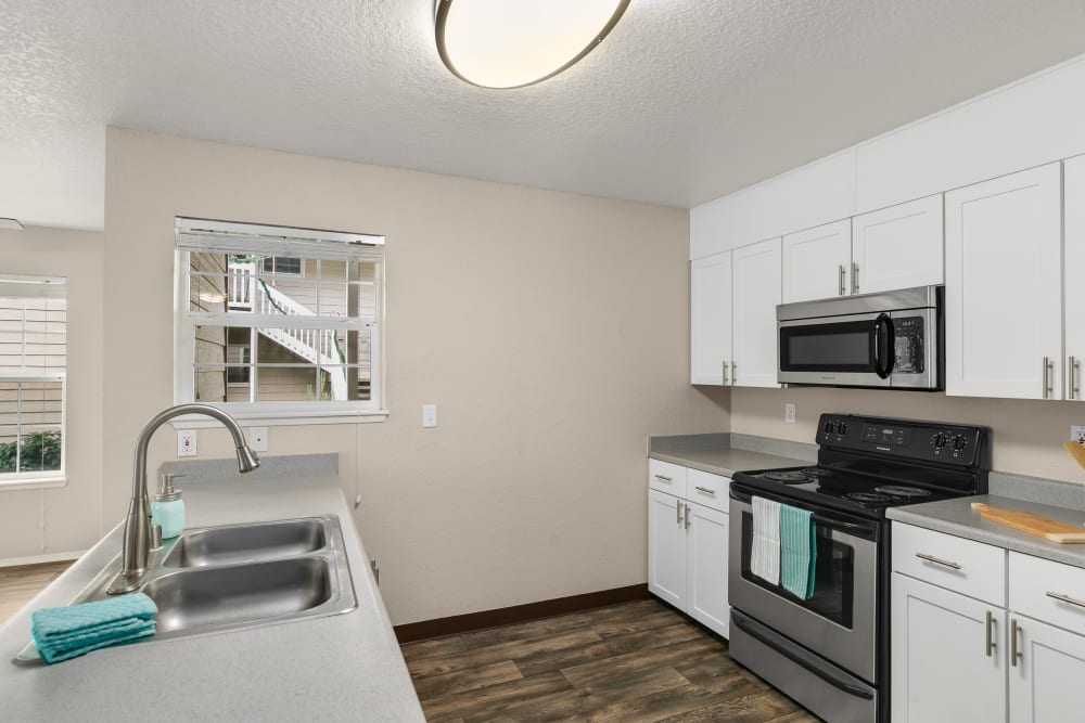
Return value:
<svg viewBox="0 0 1085 723">
<path fill-rule="evenodd" d="M 143 593 L 43 608 L 30 614 L 30 636 L 46 662 L 60 662 L 153 635 L 157 612 Z"/>
</svg>

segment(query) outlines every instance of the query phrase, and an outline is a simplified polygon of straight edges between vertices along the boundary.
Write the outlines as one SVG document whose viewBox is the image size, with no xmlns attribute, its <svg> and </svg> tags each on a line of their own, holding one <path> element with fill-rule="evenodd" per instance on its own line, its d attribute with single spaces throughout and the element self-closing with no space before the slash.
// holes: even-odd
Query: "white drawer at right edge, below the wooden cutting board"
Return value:
<svg viewBox="0 0 1085 723">
<path fill-rule="evenodd" d="M 1011 552 L 1010 580 L 1011 610 L 1085 631 L 1085 569 Z"/>
</svg>

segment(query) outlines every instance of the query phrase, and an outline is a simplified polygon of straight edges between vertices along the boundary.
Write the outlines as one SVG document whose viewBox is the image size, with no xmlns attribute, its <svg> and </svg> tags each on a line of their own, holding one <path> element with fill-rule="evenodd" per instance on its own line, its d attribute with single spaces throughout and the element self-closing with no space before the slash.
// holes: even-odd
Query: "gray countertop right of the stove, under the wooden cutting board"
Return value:
<svg viewBox="0 0 1085 723">
<path fill-rule="evenodd" d="M 1075 567 L 1085 567 L 1085 544 L 1060 544 L 1044 538 L 1014 530 L 1012 527 L 984 519 L 980 513 L 972 509 L 973 502 L 983 502 L 993 507 L 1005 507 L 1031 512 L 1044 517 L 1050 517 L 1062 522 L 1076 525 L 1085 530 L 1085 513 L 1067 507 L 1052 507 L 1014 498 L 982 494 L 973 498 L 927 502 L 906 507 L 893 507 L 885 515 L 892 520 L 907 522 L 930 530 L 968 538 L 976 542 L 985 542 L 1013 550 L 1025 555 L 1035 555 L 1057 563 L 1065 563 Z"/>
</svg>

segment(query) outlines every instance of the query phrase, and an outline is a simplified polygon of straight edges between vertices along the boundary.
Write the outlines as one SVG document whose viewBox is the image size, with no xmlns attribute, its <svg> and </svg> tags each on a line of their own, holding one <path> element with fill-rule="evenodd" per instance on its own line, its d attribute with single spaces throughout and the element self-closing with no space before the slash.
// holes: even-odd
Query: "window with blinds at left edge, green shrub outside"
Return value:
<svg viewBox="0 0 1085 723">
<path fill-rule="evenodd" d="M 0 486 L 64 476 L 65 282 L 0 275 Z"/>
</svg>

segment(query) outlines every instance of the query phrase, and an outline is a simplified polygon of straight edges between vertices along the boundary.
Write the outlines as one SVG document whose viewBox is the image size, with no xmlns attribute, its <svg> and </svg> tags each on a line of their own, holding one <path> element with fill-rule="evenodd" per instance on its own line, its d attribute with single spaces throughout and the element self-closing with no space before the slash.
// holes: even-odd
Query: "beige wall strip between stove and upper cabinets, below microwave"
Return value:
<svg viewBox="0 0 1085 723">
<path fill-rule="evenodd" d="M 784 424 L 784 402 L 795 402 L 795 424 Z M 822 412 L 987 425 L 993 429 L 995 469 L 1085 481 L 1085 472 L 1062 449 L 1070 425 L 1085 424 L 1085 404 L 1078 402 L 868 389 L 739 388 L 731 392 L 731 431 L 736 432 L 809 442 Z"/>
</svg>

